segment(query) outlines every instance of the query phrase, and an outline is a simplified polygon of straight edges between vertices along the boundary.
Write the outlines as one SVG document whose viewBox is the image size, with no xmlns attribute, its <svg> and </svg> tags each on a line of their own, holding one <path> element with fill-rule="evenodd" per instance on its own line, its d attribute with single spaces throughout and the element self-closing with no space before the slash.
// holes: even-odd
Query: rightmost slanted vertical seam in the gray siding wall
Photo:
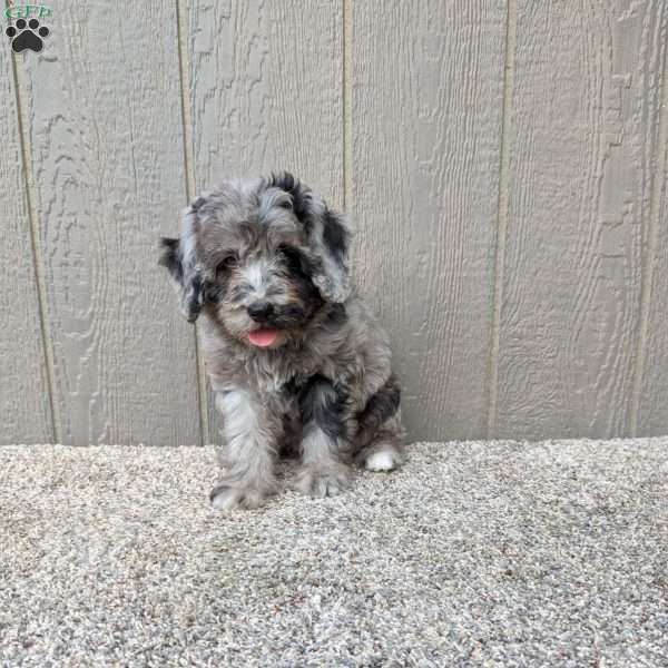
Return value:
<svg viewBox="0 0 668 668">
<path fill-rule="evenodd" d="M 666 30 L 662 31 L 665 37 Z M 659 234 L 659 216 L 661 212 L 661 190 L 664 170 L 666 169 L 667 143 L 668 143 L 668 50 L 664 51 L 662 80 L 660 92 L 659 108 L 659 130 L 658 130 L 658 150 L 657 150 L 657 168 L 654 170 L 651 178 L 651 200 L 649 209 L 649 230 L 647 239 L 647 248 L 644 254 L 642 262 L 642 278 L 640 284 L 640 332 L 638 335 L 638 347 L 636 351 L 636 365 L 633 374 L 633 394 L 631 403 L 631 423 L 630 435 L 636 436 L 638 433 L 638 413 L 640 411 L 640 394 L 642 391 L 642 376 L 645 374 L 645 358 L 647 355 L 647 337 L 649 330 L 649 311 L 651 304 L 651 291 L 654 267 L 656 264 L 656 252 Z"/>
</svg>

